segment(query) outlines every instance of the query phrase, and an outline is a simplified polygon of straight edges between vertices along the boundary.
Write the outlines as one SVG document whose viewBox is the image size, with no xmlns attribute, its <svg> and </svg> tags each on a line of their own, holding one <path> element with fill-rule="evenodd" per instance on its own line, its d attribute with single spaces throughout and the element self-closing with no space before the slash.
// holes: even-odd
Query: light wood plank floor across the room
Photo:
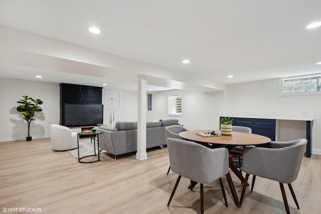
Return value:
<svg viewBox="0 0 321 214">
<path fill-rule="evenodd" d="M 69 152 L 53 151 L 50 139 L 0 142 L 0 213 L 5 207 L 41 208 L 41 213 L 199 213 L 199 185 L 190 191 L 183 177 L 167 206 L 178 177 L 172 171 L 166 175 L 167 148 L 147 155 L 143 161 L 135 155 L 114 161 L 103 154 L 101 161 L 83 164 Z M 320 213 L 320 167 L 320 156 L 303 158 L 292 183 L 299 210 L 285 186 L 291 213 Z M 231 175 L 240 197 L 241 183 Z M 204 185 L 205 213 L 285 213 L 278 182 L 257 177 L 241 208 L 234 204 L 225 178 L 223 182 L 229 207 L 216 181 Z"/>
</svg>

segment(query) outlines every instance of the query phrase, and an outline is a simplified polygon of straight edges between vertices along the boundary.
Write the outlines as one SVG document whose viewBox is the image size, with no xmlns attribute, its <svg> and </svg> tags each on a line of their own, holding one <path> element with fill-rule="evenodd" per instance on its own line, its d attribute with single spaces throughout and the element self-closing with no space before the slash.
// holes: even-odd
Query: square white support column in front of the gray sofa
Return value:
<svg viewBox="0 0 321 214">
<path fill-rule="evenodd" d="M 147 159 L 146 153 L 146 77 L 138 76 L 137 160 Z"/>
</svg>

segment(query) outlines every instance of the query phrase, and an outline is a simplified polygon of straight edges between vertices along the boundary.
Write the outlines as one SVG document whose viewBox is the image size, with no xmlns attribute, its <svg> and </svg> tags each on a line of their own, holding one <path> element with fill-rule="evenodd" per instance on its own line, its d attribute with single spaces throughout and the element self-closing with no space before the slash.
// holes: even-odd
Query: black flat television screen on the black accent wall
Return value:
<svg viewBox="0 0 321 214">
<path fill-rule="evenodd" d="M 103 105 L 68 104 L 64 105 L 65 126 L 93 126 L 103 123 Z"/>
</svg>

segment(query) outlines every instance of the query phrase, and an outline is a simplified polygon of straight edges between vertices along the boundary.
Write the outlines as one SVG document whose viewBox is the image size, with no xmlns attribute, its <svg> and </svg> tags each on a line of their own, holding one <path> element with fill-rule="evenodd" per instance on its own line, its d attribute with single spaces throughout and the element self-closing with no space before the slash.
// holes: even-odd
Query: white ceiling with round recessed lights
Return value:
<svg viewBox="0 0 321 214">
<path fill-rule="evenodd" d="M 2 26 L 86 47 L 88 52 L 97 51 L 101 56 L 106 53 L 139 61 L 141 65 L 153 65 L 153 69 L 140 72 L 124 66 L 99 65 L 116 69 L 113 74 L 121 74 L 123 81 L 112 73 L 104 76 L 69 72 L 64 63 L 54 69 L 38 66 L 41 57 L 36 56 L 32 66 L 0 59 L 0 77 L 28 79 L 42 72 L 41 81 L 46 82 L 97 86 L 105 82 L 110 88 L 136 90 L 132 79 L 147 73 L 162 80 L 147 78 L 147 84 L 156 84 L 155 90 L 163 90 L 180 88 L 175 85 L 180 82 L 193 89 L 193 81 L 183 80 L 187 77 L 194 78 L 200 89 L 202 79 L 215 85 L 321 73 L 321 65 L 315 65 L 321 61 L 321 27 L 304 29 L 311 22 L 321 21 L 320 8 L 319 0 L 2 0 Z M 90 26 L 99 27 L 102 33 L 89 33 Z M 50 55 L 32 51 L 33 47 L 27 50 L 5 42 L 1 46 L 2 56 L 9 49 L 16 50 L 13 54 L 23 50 L 42 57 Z M 67 56 L 62 57 L 68 51 L 60 50 L 59 59 L 70 61 Z M 191 63 L 182 64 L 184 59 Z M 72 62 L 78 66 L 92 65 L 84 59 Z M 134 78 L 130 79 L 131 75 Z M 228 75 L 234 78 L 227 78 Z M 165 79 L 175 81 L 169 84 Z"/>
</svg>

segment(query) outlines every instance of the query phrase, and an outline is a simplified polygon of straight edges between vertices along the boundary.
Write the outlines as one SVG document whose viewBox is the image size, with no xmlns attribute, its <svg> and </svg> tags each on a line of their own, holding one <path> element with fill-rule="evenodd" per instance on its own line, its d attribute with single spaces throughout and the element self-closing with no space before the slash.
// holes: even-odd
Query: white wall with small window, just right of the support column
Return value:
<svg viewBox="0 0 321 214">
<path fill-rule="evenodd" d="M 188 129 L 219 129 L 219 117 L 225 109 L 225 92 L 199 93 L 182 90 L 154 92 L 147 121 L 178 119 Z M 182 94 L 183 116 L 167 116 L 167 97 Z"/>
</svg>

